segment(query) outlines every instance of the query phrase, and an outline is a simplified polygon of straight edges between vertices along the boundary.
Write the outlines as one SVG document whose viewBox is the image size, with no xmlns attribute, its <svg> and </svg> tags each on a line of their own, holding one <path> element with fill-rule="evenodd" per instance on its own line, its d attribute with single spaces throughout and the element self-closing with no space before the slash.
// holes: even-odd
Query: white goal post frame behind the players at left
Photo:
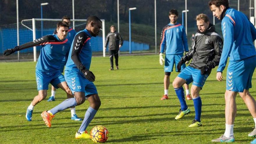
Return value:
<svg viewBox="0 0 256 144">
<path fill-rule="evenodd" d="M 32 21 L 32 29 L 25 25 L 23 22 L 25 21 Z M 33 41 L 36 40 L 36 21 L 62 21 L 62 19 L 23 19 L 21 21 L 21 24 L 23 26 L 25 26 L 26 28 L 30 29 L 31 31 L 33 31 Z M 70 19 L 70 21 L 74 21 L 74 22 L 86 22 L 86 19 Z M 105 20 L 101 19 L 102 21 L 102 49 L 103 49 L 103 57 L 106 56 L 106 50 L 104 49 L 104 45 L 105 45 Z M 19 34 L 17 35 L 19 38 Z M 37 55 L 36 55 L 36 47 L 33 47 L 33 54 L 34 54 L 34 61 L 36 61 Z"/>
</svg>

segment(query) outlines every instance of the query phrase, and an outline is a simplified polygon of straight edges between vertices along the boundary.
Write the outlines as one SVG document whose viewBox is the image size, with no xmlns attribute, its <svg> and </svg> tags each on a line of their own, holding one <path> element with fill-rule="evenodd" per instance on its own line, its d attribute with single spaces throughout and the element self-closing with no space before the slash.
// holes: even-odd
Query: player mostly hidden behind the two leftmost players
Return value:
<svg viewBox="0 0 256 144">
<path fill-rule="evenodd" d="M 68 25 L 70 26 L 70 17 L 69 16 L 67 16 L 67 15 L 63 16 L 62 20 L 67 22 Z M 72 29 L 72 28 L 68 29 L 67 39 L 70 41 L 70 43 L 73 42 L 76 33 L 77 32 L 74 29 Z M 55 30 L 53 34 L 57 34 L 57 31 Z M 61 73 L 63 73 L 64 66 L 65 66 L 66 63 L 67 63 L 67 58 L 64 58 L 63 61 L 62 61 L 61 69 L 60 69 Z M 55 94 L 56 94 L 56 88 L 54 88 L 54 86 L 51 86 L 51 97 L 49 97 L 49 99 L 47 101 L 48 102 L 55 101 Z M 73 115 L 76 114 L 75 109 L 70 108 L 70 110 L 71 110 L 71 117 L 73 117 Z M 81 119 L 79 118 L 77 120 L 80 121 Z"/>
</svg>

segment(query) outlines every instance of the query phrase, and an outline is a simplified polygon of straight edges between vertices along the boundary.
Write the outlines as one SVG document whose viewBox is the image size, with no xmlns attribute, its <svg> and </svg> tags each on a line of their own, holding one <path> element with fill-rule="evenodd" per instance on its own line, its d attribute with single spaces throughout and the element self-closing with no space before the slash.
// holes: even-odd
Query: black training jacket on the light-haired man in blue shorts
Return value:
<svg viewBox="0 0 256 144">
<path fill-rule="evenodd" d="M 191 49 L 182 59 L 189 61 L 192 58 L 189 66 L 197 69 L 205 65 L 214 68 L 219 65 L 222 47 L 223 40 L 221 36 L 215 31 L 214 25 L 209 24 L 209 28 L 205 32 L 201 33 L 197 30 Z"/>
</svg>

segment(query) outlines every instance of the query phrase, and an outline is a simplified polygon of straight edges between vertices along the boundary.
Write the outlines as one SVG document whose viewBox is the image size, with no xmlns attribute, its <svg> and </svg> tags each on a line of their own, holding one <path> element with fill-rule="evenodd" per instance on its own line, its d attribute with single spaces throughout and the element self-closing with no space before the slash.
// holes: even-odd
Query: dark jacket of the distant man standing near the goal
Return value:
<svg viewBox="0 0 256 144">
<path fill-rule="evenodd" d="M 119 45 L 123 45 L 123 39 L 118 32 L 108 33 L 106 37 L 105 47 L 109 43 L 109 50 L 119 50 Z"/>
</svg>

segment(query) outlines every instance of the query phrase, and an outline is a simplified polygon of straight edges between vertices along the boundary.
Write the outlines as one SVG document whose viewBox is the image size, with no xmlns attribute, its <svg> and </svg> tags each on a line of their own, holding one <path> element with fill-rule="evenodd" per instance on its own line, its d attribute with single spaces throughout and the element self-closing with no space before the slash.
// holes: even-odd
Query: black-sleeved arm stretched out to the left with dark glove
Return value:
<svg viewBox="0 0 256 144">
<path fill-rule="evenodd" d="M 24 43 L 23 45 L 16 46 L 13 49 L 7 49 L 4 51 L 3 55 L 8 56 L 10 54 L 13 54 L 15 51 L 21 51 L 21 50 L 29 48 L 29 47 L 44 45 L 44 44 L 46 44 L 46 42 L 49 42 L 49 40 L 51 40 L 51 39 L 55 40 L 55 38 L 52 35 L 46 35 L 46 36 L 39 38 L 37 40 L 34 40 L 32 42 L 27 42 L 27 43 Z"/>
</svg>

